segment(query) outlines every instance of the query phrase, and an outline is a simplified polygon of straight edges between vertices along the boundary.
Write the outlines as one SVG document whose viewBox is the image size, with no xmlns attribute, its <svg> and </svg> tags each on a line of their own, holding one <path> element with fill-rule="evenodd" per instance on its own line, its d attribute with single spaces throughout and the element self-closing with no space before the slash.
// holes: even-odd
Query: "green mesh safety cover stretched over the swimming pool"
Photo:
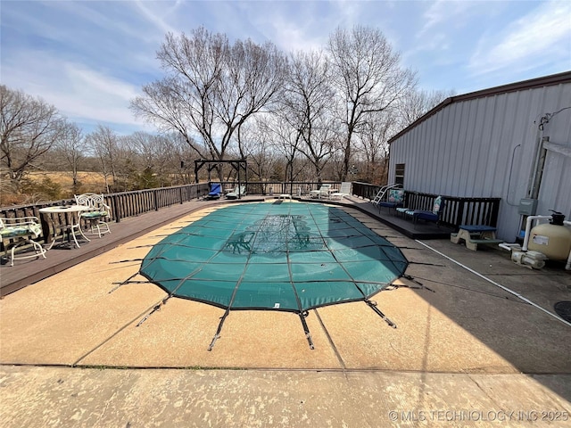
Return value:
<svg viewBox="0 0 571 428">
<path fill-rule="evenodd" d="M 227 314 L 307 314 L 336 303 L 369 302 L 407 266 L 397 247 L 339 208 L 260 202 L 216 210 L 169 235 L 149 251 L 140 273 L 169 295 Z"/>
</svg>

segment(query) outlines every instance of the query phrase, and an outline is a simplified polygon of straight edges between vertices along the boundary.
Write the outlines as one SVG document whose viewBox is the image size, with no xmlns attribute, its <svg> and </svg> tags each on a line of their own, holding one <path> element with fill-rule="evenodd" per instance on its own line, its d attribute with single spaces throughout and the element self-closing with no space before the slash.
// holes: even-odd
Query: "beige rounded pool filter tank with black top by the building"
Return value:
<svg viewBox="0 0 571 428">
<path fill-rule="evenodd" d="M 571 251 L 571 229 L 564 226 L 564 220 L 563 214 L 553 211 L 549 223 L 531 230 L 527 249 L 540 251 L 551 260 L 566 260 Z"/>
</svg>

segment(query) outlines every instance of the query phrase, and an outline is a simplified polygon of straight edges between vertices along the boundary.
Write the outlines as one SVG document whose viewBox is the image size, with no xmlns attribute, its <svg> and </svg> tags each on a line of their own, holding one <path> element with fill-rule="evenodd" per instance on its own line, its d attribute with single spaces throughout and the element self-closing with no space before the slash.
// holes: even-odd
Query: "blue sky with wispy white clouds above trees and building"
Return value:
<svg viewBox="0 0 571 428">
<path fill-rule="evenodd" d="M 285 52 L 325 47 L 338 26 L 380 29 L 419 87 L 457 94 L 571 70 L 571 2 L 25 1 L 0 3 L 0 78 L 89 132 L 152 130 L 128 109 L 163 74 L 167 32 L 203 25 Z"/>
</svg>

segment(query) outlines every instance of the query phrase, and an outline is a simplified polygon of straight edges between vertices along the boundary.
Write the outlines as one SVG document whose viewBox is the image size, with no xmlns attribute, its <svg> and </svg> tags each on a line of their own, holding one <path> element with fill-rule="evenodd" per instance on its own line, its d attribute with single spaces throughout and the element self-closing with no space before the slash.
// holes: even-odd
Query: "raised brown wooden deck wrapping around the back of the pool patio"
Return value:
<svg viewBox="0 0 571 428">
<path fill-rule="evenodd" d="M 246 196 L 242 200 L 228 201 L 220 199 L 218 201 L 194 200 L 178 205 L 172 205 L 158 211 L 152 211 L 137 217 L 123 218 L 120 223 L 112 223 L 112 233 L 103 235 L 102 238 L 95 237 L 89 243 L 80 244 L 81 248 L 72 247 L 70 249 L 54 249 L 47 252 L 47 259 L 16 260 L 14 266 L 8 263 L 0 265 L 0 296 L 20 290 L 29 284 L 34 284 L 48 276 L 53 276 L 62 270 L 77 265 L 82 261 L 91 259 L 105 251 L 131 241 L 137 236 L 145 235 L 157 227 L 169 224 L 193 212 L 201 210 L 209 205 L 220 203 L 236 202 L 262 202 L 265 200 L 277 199 L 274 196 Z M 451 229 L 434 224 L 420 223 L 413 225 L 412 222 L 398 218 L 388 210 L 379 212 L 377 207 L 366 200 L 357 197 L 343 198 L 343 200 L 316 200 L 307 198 L 294 198 L 302 202 L 327 202 L 335 205 L 350 206 L 367 213 L 372 218 L 385 223 L 387 226 L 401 232 L 413 239 L 450 239 Z"/>
</svg>

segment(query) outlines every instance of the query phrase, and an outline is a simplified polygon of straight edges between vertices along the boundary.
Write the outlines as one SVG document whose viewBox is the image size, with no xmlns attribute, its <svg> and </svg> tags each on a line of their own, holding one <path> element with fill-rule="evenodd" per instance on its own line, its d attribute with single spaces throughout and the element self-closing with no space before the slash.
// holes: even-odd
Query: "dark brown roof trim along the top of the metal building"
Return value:
<svg viewBox="0 0 571 428">
<path fill-rule="evenodd" d="M 451 97 L 446 98 L 442 103 L 436 105 L 432 110 L 426 111 L 425 114 L 423 114 L 418 119 L 416 119 L 414 122 L 412 122 L 408 127 L 402 129 L 400 132 L 398 132 L 397 134 L 395 134 L 394 136 L 389 138 L 387 142 L 388 142 L 388 144 L 393 143 L 394 140 L 396 140 L 397 138 L 399 138 L 403 134 L 406 134 L 407 132 L 409 132 L 410 129 L 418 127 L 418 125 L 420 125 L 426 119 L 430 118 L 431 116 L 434 116 L 434 114 L 436 114 L 438 111 L 443 110 L 444 107 L 446 107 L 447 105 L 449 105 L 451 103 L 473 100 L 475 98 L 481 98 L 481 97 L 490 96 L 490 95 L 506 94 L 509 92 L 519 91 L 522 89 L 533 89 L 534 87 L 553 86 L 553 85 L 559 85 L 561 83 L 569 83 L 569 82 L 571 82 L 571 71 L 564 71 L 562 73 L 551 74 L 549 76 L 543 76 L 541 78 L 530 78 L 528 80 L 522 80 L 520 82 L 509 83 L 507 85 L 494 86 L 494 87 L 482 89 L 482 90 L 475 91 L 475 92 L 469 92 L 468 94 L 464 94 L 464 95 L 451 96 Z"/>
</svg>

